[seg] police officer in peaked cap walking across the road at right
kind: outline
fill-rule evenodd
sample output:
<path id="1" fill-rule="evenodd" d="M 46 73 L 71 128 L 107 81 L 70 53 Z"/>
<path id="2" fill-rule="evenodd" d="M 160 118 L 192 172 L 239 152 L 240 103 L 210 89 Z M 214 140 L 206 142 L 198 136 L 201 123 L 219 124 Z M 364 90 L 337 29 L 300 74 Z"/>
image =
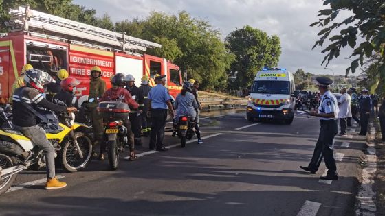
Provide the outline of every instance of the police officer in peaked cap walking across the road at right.
<path id="1" fill-rule="evenodd" d="M 322 180 L 338 180 L 336 160 L 333 156 L 334 136 L 338 133 L 338 101 L 336 97 L 329 91 L 329 85 L 333 83 L 328 77 L 317 77 L 318 89 L 320 90 L 321 101 L 318 108 L 318 112 L 308 112 L 309 115 L 320 117 L 320 135 L 314 149 L 313 158 L 309 163 L 309 166 L 301 169 L 316 173 L 322 157 L 325 159 L 325 165 L 328 169 L 327 176 L 321 176 Z"/>

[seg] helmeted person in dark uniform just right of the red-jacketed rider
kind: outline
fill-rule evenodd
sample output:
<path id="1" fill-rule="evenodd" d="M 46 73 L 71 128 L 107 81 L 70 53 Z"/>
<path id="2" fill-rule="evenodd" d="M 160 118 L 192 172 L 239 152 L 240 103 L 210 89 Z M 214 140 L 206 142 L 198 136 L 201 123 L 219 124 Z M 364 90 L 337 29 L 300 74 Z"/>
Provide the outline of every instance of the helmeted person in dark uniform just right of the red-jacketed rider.
<path id="1" fill-rule="evenodd" d="M 129 74 L 126 76 L 126 89 L 131 94 L 132 98 L 139 104 L 137 110 L 131 110 L 129 120 L 134 135 L 135 145 L 142 145 L 142 113 L 144 108 L 144 98 L 142 92 L 135 86 L 135 77 Z"/>

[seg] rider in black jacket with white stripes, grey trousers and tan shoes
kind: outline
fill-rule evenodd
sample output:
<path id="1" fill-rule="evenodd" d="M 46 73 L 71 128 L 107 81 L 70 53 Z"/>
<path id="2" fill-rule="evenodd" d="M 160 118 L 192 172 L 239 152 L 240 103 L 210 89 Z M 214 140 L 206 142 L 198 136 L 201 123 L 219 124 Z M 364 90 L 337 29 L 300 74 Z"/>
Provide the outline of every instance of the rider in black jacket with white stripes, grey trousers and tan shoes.
<path id="1" fill-rule="evenodd" d="M 45 154 L 47 161 L 47 182 L 45 189 L 61 189 L 66 187 L 65 182 L 60 182 L 55 175 L 55 149 L 47 140 L 45 130 L 38 125 L 39 108 L 47 108 L 56 112 L 76 112 L 76 108 L 59 106 L 47 101 L 42 95 L 44 85 L 52 82 L 52 77 L 38 69 L 25 71 L 25 86 L 17 88 L 13 95 L 13 118 L 12 123 L 31 141 L 38 145 Z M 26 158 L 28 159 L 28 158 Z"/>

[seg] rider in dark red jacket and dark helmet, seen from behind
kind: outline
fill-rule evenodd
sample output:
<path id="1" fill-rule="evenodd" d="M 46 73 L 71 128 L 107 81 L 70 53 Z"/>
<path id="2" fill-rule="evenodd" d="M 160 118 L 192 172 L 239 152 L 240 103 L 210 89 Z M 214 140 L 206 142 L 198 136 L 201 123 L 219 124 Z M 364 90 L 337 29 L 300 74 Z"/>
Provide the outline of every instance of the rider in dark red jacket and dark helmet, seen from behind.
<path id="1" fill-rule="evenodd" d="M 139 108 L 139 104 L 131 97 L 129 91 L 127 91 L 124 86 L 126 85 L 126 77 L 122 73 L 116 73 L 111 79 L 112 88 L 107 90 L 100 102 L 102 101 L 122 101 L 129 105 L 129 108 L 132 110 L 137 110 Z M 127 139 L 129 140 L 129 160 L 136 160 L 134 148 L 135 143 L 133 140 L 133 132 L 131 130 L 131 123 L 129 119 L 122 119 L 124 127 L 127 128 Z M 102 151 L 104 149 L 100 149 Z M 104 158 L 104 152 L 100 152 L 102 157 Z"/>

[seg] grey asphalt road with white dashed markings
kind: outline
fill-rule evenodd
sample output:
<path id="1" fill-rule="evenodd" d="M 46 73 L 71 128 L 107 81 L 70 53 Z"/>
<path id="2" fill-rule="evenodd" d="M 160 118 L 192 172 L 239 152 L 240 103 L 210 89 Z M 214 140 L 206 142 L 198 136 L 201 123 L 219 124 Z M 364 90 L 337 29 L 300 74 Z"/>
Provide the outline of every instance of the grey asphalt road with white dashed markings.
<path id="1" fill-rule="evenodd" d="M 292 125 L 250 123 L 241 112 L 202 119 L 201 130 L 209 137 L 202 145 L 168 152 L 148 152 L 145 139 L 137 150 L 146 153 L 120 161 L 118 171 L 109 171 L 108 160 L 79 173 L 59 170 L 65 189 L 46 191 L 38 184 L 45 171 L 24 171 L 0 197 L 0 215 L 353 214 L 363 139 L 338 138 L 340 180 L 320 182 L 324 163 L 316 175 L 298 168 L 313 154 L 316 118 L 297 113 Z M 168 133 L 167 145 L 178 142 Z"/>

